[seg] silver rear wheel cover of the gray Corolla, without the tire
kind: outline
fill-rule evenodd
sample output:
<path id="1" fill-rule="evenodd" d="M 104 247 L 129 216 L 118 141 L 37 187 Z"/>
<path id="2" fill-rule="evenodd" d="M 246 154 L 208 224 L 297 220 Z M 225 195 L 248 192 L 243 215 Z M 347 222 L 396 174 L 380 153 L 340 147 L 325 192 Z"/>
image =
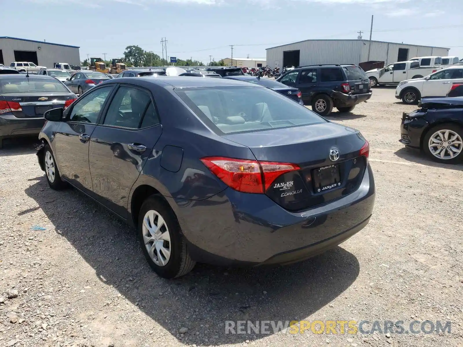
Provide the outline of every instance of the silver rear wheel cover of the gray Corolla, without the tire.
<path id="1" fill-rule="evenodd" d="M 170 234 L 164 218 L 154 210 L 143 218 L 143 241 L 150 258 L 157 266 L 165 266 L 170 259 Z"/>

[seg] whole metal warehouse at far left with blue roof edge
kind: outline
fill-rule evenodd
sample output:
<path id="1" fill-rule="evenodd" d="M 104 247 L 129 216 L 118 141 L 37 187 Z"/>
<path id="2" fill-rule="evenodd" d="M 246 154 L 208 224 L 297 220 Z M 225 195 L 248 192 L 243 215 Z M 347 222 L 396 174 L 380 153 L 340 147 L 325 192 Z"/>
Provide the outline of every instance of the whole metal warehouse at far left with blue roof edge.
<path id="1" fill-rule="evenodd" d="M 33 62 L 36 65 L 52 68 L 53 62 L 81 65 L 81 58 L 77 46 L 0 37 L 0 64 L 10 65 L 11 62 Z"/>

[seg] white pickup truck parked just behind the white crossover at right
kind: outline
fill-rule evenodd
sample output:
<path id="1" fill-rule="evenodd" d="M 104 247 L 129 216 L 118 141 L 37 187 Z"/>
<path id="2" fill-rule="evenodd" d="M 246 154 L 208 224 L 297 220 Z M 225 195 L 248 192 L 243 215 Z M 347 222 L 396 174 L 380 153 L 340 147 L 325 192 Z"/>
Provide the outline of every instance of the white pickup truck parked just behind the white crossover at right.
<path id="1" fill-rule="evenodd" d="M 371 87 L 380 84 L 399 84 L 401 81 L 421 78 L 440 70 L 442 67 L 422 68 L 417 61 L 394 62 L 385 66 L 367 71 Z"/>

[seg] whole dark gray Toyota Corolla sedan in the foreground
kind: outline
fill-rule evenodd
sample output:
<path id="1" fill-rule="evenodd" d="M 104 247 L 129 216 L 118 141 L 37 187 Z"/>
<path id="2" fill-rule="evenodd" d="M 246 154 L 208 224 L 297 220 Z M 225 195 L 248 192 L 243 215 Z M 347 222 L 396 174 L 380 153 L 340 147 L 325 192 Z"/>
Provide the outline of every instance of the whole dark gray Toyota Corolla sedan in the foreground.
<path id="1" fill-rule="evenodd" d="M 369 222 L 369 144 L 274 91 L 241 81 L 105 81 L 45 113 L 38 161 L 137 228 L 164 278 L 195 262 L 287 264 Z"/>

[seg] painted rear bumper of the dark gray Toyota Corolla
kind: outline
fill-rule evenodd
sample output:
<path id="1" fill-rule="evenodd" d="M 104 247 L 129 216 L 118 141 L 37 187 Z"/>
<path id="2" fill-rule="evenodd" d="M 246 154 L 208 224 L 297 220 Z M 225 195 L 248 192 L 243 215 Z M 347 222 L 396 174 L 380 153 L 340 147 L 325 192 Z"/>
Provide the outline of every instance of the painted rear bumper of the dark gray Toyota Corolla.
<path id="1" fill-rule="evenodd" d="M 205 200 L 175 199 L 191 257 L 223 266 L 284 264 L 333 248 L 368 223 L 375 201 L 371 168 L 356 192 L 290 212 L 263 194 L 231 188 Z"/>

